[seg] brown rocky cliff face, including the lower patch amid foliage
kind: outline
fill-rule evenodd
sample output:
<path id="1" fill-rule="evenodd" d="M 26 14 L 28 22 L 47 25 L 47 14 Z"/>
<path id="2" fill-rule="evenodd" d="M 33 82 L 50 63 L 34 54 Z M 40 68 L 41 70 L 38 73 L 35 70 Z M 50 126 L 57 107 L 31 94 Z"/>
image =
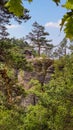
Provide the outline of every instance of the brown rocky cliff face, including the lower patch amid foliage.
<path id="1" fill-rule="evenodd" d="M 32 61 L 33 71 L 24 71 L 23 85 L 26 90 L 29 90 L 32 85 L 29 85 L 31 79 L 38 80 L 43 86 L 44 83 L 48 83 L 51 78 L 51 74 L 54 72 L 53 60 L 51 59 L 35 59 Z M 38 97 L 34 94 L 29 94 L 25 99 L 22 99 L 21 105 L 28 106 L 30 104 L 35 105 L 38 102 Z"/>

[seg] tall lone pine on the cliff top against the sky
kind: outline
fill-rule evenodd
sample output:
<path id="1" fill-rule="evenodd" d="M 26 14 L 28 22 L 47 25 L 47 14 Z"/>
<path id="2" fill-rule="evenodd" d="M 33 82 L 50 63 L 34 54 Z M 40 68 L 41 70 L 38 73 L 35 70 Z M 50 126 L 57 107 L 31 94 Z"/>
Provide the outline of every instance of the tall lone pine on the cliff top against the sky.
<path id="1" fill-rule="evenodd" d="M 50 50 L 50 48 L 53 48 L 53 45 L 49 44 L 51 40 L 47 40 L 46 38 L 46 36 L 49 36 L 49 33 L 45 31 L 45 28 L 42 25 L 34 22 L 32 26 L 33 30 L 26 35 L 26 38 L 27 40 L 30 40 L 35 49 L 38 49 L 38 56 L 40 56 L 42 48 L 47 51 L 47 49 Z"/>

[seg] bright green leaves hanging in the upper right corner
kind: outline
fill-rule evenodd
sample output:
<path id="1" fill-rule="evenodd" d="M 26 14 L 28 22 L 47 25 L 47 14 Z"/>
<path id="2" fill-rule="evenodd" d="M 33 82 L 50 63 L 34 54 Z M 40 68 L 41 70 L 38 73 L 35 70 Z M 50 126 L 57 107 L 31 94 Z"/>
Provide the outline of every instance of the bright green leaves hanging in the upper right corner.
<path id="1" fill-rule="evenodd" d="M 53 0 L 58 5 L 61 0 Z M 61 22 L 61 29 L 64 26 L 64 32 L 66 37 L 69 39 L 73 39 L 73 0 L 66 0 L 65 4 L 62 5 L 64 8 L 68 10 L 68 12 L 63 16 Z"/>

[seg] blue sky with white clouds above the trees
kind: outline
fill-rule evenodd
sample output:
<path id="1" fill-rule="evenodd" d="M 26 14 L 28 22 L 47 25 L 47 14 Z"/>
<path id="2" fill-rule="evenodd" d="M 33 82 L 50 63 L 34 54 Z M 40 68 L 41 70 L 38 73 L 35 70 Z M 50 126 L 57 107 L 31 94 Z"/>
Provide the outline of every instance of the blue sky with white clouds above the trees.
<path id="1" fill-rule="evenodd" d="M 62 3 L 64 1 L 62 0 Z M 24 5 L 30 10 L 31 19 L 21 25 L 11 21 L 12 25 L 7 26 L 10 37 L 25 37 L 32 30 L 32 24 L 37 21 L 50 33 L 49 39 L 53 40 L 53 44 L 59 44 L 64 38 L 64 32 L 60 32 L 59 23 L 66 10 L 61 6 L 56 6 L 52 0 L 33 0 L 30 4 L 25 1 Z"/>

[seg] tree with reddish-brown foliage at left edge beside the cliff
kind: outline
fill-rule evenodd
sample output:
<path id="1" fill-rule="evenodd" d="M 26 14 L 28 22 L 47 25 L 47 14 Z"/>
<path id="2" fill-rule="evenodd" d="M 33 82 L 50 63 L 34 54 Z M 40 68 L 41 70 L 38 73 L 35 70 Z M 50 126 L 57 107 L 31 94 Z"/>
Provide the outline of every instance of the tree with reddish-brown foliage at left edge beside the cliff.
<path id="1" fill-rule="evenodd" d="M 4 64 L 0 65 L 0 80 L 0 92 L 5 97 L 5 101 L 1 99 L 0 104 L 7 107 L 19 104 L 22 96 L 26 95 L 25 90 L 17 84 L 13 72 Z"/>

